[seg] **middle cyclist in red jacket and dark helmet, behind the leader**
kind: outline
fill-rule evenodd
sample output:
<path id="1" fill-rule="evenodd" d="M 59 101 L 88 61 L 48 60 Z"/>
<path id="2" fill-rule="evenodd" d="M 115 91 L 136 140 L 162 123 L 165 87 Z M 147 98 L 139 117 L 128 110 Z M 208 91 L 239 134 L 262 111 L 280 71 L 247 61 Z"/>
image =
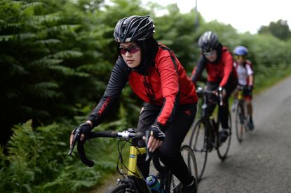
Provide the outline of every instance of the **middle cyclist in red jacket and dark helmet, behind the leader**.
<path id="1" fill-rule="evenodd" d="M 202 54 L 198 59 L 192 72 L 191 80 L 196 84 L 201 77 L 202 72 L 206 69 L 207 89 L 224 90 L 224 104 L 219 108 L 220 120 L 222 122 L 222 131 L 219 133 L 219 141 L 224 142 L 228 137 L 228 113 L 229 113 L 229 96 L 234 91 L 238 83 L 236 71 L 234 70 L 234 60 L 229 49 L 219 43 L 217 34 L 212 31 L 206 31 L 199 38 L 198 45 Z M 210 96 L 209 100 L 217 100 L 215 96 Z M 210 103 L 208 113 L 210 115 L 215 109 L 215 103 Z"/>

